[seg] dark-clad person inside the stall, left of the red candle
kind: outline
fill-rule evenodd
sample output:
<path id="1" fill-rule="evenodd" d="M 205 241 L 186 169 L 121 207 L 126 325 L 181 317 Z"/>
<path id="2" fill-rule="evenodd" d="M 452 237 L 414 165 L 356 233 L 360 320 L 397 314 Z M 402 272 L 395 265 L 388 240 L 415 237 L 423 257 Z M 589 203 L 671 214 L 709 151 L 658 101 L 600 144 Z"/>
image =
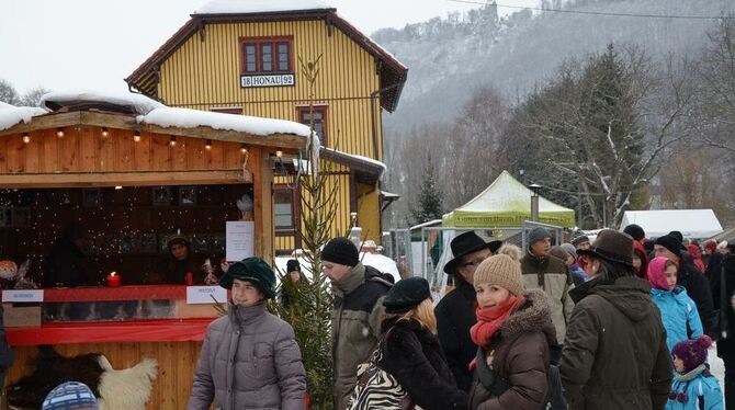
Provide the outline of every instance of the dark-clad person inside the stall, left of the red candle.
<path id="1" fill-rule="evenodd" d="M 46 260 L 44 287 L 71 287 L 87 284 L 88 277 L 82 265 L 86 234 L 87 230 L 79 223 L 71 223 L 64 228 L 61 237 Z"/>

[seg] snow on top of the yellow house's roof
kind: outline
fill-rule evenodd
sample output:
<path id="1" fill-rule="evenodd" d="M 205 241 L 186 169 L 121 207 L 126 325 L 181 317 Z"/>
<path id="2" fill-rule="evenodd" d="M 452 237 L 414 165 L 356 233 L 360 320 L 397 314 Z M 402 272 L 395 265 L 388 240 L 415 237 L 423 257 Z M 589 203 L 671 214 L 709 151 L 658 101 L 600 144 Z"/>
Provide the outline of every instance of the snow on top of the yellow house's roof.
<path id="1" fill-rule="evenodd" d="M 196 9 L 192 15 L 249 14 L 321 9 L 332 9 L 332 7 L 321 0 L 213 0 Z"/>

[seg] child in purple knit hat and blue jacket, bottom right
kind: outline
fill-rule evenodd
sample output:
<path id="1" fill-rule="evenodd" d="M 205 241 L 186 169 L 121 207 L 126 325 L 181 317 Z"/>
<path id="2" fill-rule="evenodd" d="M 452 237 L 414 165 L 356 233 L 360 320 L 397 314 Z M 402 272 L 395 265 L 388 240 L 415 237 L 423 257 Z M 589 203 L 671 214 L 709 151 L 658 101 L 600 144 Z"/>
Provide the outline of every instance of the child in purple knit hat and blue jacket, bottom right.
<path id="1" fill-rule="evenodd" d="M 674 346 L 674 384 L 666 410 L 724 410 L 717 378 L 710 374 L 706 350 L 712 339 L 702 334 Z"/>

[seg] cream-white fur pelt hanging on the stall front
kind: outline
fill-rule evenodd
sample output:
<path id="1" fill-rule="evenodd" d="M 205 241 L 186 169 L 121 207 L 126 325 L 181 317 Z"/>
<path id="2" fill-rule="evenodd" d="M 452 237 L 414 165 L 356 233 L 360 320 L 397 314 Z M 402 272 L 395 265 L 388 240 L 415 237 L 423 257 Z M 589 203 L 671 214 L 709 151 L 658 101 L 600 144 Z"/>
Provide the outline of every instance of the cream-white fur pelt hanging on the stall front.
<path id="1" fill-rule="evenodd" d="M 115 371 L 104 356 L 100 377 L 100 410 L 144 410 L 150 398 L 152 381 L 158 377 L 158 362 L 144 358 L 131 368 Z"/>

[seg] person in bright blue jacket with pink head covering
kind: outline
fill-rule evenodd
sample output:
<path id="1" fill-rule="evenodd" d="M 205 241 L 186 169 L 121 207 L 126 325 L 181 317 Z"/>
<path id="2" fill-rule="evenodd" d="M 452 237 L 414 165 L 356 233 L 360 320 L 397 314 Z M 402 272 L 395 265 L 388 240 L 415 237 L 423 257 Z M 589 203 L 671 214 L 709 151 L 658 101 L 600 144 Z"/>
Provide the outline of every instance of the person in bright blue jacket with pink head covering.
<path id="1" fill-rule="evenodd" d="M 676 284 L 678 269 L 676 262 L 663 257 L 654 258 L 648 263 L 651 299 L 662 311 L 669 351 L 675 344 L 704 333 L 697 304 L 682 286 Z"/>

